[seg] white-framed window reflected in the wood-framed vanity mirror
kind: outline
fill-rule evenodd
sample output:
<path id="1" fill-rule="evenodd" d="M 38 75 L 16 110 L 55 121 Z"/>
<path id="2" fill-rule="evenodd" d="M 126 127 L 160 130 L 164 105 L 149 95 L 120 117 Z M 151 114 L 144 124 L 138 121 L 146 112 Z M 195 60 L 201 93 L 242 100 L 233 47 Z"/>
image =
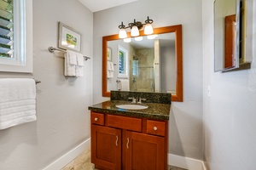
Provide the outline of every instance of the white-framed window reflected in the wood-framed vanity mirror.
<path id="1" fill-rule="evenodd" d="M 128 77 L 128 50 L 118 46 L 118 63 L 119 63 L 119 71 L 118 77 Z"/>

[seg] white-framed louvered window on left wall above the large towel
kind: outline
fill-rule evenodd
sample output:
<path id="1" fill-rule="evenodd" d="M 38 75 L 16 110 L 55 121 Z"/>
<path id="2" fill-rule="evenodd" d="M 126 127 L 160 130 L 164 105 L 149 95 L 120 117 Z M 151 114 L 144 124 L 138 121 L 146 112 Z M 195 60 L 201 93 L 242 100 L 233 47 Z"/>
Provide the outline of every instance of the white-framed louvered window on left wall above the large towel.
<path id="1" fill-rule="evenodd" d="M 0 0 L 0 71 L 32 72 L 32 0 Z"/>

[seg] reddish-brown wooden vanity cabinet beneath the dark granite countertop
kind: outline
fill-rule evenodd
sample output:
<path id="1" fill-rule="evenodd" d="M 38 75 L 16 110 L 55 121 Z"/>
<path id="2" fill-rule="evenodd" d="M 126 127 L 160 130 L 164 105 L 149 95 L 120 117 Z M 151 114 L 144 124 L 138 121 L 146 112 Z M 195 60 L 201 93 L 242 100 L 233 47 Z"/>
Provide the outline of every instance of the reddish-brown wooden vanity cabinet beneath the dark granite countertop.
<path id="1" fill-rule="evenodd" d="M 91 111 L 91 162 L 102 170 L 166 170 L 167 121 Z"/>

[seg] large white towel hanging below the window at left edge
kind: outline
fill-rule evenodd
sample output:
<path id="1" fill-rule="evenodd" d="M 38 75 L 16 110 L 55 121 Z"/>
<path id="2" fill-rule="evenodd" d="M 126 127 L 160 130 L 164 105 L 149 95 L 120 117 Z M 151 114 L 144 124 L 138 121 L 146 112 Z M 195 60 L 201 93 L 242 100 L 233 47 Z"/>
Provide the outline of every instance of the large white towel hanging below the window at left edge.
<path id="1" fill-rule="evenodd" d="M 0 87 L 0 129 L 37 120 L 33 79 L 0 78 Z"/>

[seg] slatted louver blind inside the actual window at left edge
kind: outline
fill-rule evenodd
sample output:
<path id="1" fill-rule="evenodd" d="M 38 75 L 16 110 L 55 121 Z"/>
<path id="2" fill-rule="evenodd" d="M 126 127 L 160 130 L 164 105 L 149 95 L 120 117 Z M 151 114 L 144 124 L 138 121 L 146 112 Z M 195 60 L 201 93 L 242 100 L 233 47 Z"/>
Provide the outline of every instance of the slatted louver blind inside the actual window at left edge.
<path id="1" fill-rule="evenodd" d="M 0 57 L 13 58 L 14 8 L 13 0 L 0 0 Z"/>

